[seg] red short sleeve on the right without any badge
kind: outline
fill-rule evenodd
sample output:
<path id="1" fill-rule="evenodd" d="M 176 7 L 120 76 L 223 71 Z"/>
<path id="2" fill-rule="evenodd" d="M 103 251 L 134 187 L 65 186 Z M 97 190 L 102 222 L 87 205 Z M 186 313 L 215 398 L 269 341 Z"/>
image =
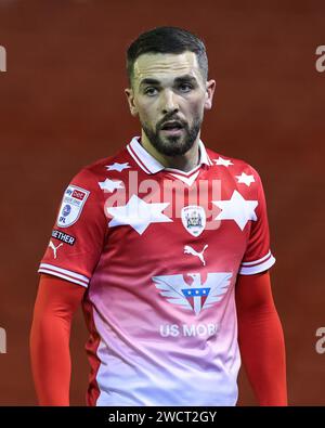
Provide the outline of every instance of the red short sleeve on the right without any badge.
<path id="1" fill-rule="evenodd" d="M 258 206 L 256 209 L 257 219 L 251 221 L 247 248 L 238 271 L 242 275 L 263 272 L 275 263 L 275 258 L 270 249 L 270 231 L 262 181 L 259 173 L 252 167 L 250 168 L 256 179 L 255 198 L 258 202 Z"/>

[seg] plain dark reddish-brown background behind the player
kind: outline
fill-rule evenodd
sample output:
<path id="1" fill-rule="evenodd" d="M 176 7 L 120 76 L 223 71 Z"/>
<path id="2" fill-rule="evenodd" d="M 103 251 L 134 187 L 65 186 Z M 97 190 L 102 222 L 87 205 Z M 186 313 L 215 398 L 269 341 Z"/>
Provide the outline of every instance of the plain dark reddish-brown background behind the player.
<path id="1" fill-rule="evenodd" d="M 125 55 L 140 33 L 176 25 L 206 43 L 217 80 L 202 139 L 260 172 L 268 199 L 274 298 L 287 345 L 289 401 L 325 405 L 324 1 L 0 0 L 0 404 L 37 403 L 29 328 L 37 268 L 72 177 L 115 153 L 140 126 L 127 105 Z M 84 405 L 81 311 L 72 335 L 72 404 Z M 258 346 L 258 345 L 257 345 Z M 255 399 L 240 374 L 240 405 Z"/>

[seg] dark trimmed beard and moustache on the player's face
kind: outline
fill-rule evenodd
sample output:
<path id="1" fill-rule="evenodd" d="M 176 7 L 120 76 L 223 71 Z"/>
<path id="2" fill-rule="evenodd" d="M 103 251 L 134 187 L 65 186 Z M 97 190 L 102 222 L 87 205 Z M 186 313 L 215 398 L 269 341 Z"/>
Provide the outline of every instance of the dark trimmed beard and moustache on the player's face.
<path id="1" fill-rule="evenodd" d="M 187 124 L 182 124 L 183 128 L 180 135 L 161 135 L 161 128 L 159 125 L 157 125 L 156 130 L 151 129 L 142 121 L 141 126 L 148 141 L 158 153 L 165 156 L 180 156 L 184 155 L 193 147 L 200 130 L 202 121 L 202 118 L 196 117 L 191 128 Z"/>

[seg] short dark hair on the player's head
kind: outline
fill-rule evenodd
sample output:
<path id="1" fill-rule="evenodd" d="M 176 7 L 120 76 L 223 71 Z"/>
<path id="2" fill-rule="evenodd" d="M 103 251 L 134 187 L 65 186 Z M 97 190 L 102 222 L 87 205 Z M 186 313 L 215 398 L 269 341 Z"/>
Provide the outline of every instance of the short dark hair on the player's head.
<path id="1" fill-rule="evenodd" d="M 129 85 L 134 78 L 134 63 L 144 53 L 183 53 L 196 54 L 204 80 L 208 78 L 208 57 L 205 43 L 193 33 L 179 27 L 156 27 L 142 33 L 127 50 L 127 73 Z"/>

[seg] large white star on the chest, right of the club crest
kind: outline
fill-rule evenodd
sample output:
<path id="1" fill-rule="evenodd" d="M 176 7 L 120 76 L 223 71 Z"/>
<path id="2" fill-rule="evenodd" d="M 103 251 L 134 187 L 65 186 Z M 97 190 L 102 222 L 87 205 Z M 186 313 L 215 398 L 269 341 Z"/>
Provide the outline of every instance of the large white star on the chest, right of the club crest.
<path id="1" fill-rule="evenodd" d="M 242 231 L 248 220 L 257 220 L 255 209 L 258 206 L 258 202 L 244 199 L 237 191 L 234 191 L 231 199 L 212 200 L 212 204 L 222 209 L 214 220 L 234 220 Z"/>

